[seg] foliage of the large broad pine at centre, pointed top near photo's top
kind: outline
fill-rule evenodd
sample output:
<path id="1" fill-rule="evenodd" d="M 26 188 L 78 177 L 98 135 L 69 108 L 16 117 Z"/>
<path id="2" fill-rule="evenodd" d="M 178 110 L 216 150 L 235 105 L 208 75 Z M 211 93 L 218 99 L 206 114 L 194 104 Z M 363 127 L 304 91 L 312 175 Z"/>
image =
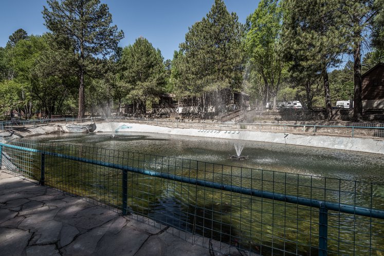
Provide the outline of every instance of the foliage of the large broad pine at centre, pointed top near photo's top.
<path id="1" fill-rule="evenodd" d="M 222 0 L 215 0 L 207 16 L 189 28 L 174 55 L 172 81 L 179 96 L 240 90 L 243 35 L 237 15 L 230 14 Z"/>

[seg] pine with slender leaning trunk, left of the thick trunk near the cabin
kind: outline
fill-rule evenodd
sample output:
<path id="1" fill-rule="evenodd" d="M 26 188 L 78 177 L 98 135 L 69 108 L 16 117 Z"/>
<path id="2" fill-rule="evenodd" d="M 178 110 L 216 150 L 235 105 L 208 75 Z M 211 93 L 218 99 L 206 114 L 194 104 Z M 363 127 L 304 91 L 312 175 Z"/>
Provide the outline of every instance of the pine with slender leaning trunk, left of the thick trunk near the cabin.
<path id="1" fill-rule="evenodd" d="M 331 119 L 333 113 L 327 70 L 340 62 L 338 57 L 345 50 L 339 1 L 287 0 L 284 9 L 285 57 L 292 61 L 292 68 L 306 70 L 303 75 L 321 74 L 326 114 Z"/>

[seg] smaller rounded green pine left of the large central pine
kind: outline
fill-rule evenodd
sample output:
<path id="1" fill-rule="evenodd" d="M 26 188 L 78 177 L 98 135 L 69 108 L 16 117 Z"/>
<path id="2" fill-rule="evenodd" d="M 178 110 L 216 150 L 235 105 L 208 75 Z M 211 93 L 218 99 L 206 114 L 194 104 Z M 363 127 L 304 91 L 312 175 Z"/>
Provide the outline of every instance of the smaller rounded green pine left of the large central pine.
<path id="1" fill-rule="evenodd" d="M 137 38 L 125 47 L 120 65 L 121 84 L 126 103 L 134 104 L 135 110 L 145 112 L 148 100 L 155 100 L 164 91 L 164 64 L 159 50 L 147 39 Z"/>

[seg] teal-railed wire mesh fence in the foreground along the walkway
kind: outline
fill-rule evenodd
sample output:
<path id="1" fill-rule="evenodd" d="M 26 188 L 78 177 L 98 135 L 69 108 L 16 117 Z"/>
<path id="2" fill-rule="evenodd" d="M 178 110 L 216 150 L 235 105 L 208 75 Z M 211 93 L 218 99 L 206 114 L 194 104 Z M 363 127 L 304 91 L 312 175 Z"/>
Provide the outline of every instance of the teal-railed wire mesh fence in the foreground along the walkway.
<path id="1" fill-rule="evenodd" d="M 33 141 L 0 143 L 0 163 L 218 252 L 384 253 L 383 184 Z"/>

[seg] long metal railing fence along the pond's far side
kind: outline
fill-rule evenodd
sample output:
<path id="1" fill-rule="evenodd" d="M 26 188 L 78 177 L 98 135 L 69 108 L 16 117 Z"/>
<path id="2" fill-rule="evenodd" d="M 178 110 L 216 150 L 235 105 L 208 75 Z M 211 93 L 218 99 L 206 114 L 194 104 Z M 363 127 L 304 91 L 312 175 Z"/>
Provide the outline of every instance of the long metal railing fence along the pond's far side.
<path id="1" fill-rule="evenodd" d="M 129 117 L 110 117 L 95 119 L 41 119 L 41 120 L 19 120 L 0 122 L 1 130 L 35 127 L 49 123 L 75 123 L 75 122 L 129 122 L 137 124 L 148 124 L 170 128 L 192 128 L 203 130 L 237 130 L 237 131 L 262 131 L 262 132 L 284 132 L 306 135 L 331 135 L 347 137 L 367 137 L 373 139 L 384 138 L 384 124 L 375 123 L 338 123 L 326 122 L 301 122 L 292 123 L 233 123 L 213 121 L 190 121 L 190 120 L 168 120 L 168 119 L 137 119 Z"/>

